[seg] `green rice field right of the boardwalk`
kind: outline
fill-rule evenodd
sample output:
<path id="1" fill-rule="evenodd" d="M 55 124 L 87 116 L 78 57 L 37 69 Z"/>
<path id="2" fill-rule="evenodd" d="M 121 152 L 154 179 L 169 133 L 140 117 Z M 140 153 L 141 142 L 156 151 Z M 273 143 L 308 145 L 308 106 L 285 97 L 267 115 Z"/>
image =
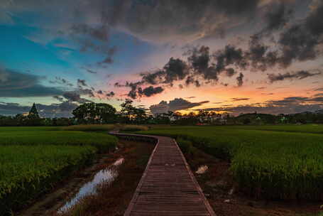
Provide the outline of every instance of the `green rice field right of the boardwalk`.
<path id="1" fill-rule="evenodd" d="M 170 126 L 141 134 L 182 137 L 230 160 L 241 190 L 258 198 L 323 200 L 321 129 L 322 125 Z"/>

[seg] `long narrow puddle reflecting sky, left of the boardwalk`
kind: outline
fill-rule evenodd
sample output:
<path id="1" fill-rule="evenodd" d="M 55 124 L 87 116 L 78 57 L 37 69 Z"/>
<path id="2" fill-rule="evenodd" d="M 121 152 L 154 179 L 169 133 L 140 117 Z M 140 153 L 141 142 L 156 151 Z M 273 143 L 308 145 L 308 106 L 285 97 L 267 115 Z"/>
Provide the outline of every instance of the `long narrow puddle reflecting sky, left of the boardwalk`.
<path id="1" fill-rule="evenodd" d="M 100 183 L 111 183 L 112 181 L 114 181 L 114 179 L 118 175 L 117 167 L 120 166 L 122 163 L 124 163 L 124 158 L 119 158 L 108 168 L 98 171 L 91 181 L 82 185 L 82 188 L 80 188 L 79 192 L 75 195 L 74 198 L 66 202 L 66 204 L 58 210 L 58 213 L 66 212 L 73 205 L 75 205 L 77 201 L 84 198 L 85 196 L 95 194 L 97 185 L 99 185 Z"/>

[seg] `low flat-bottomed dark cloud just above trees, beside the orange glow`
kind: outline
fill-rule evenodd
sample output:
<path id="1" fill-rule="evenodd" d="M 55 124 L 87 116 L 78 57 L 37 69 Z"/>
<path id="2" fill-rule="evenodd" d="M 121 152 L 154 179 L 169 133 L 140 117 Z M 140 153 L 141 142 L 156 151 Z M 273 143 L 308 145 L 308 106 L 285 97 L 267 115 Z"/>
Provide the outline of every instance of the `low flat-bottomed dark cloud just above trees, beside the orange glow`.
<path id="1" fill-rule="evenodd" d="M 149 107 L 149 109 L 152 114 L 167 113 L 168 111 L 175 112 L 177 110 L 198 107 L 198 106 L 200 106 L 202 104 L 206 104 L 208 102 L 209 101 L 190 102 L 186 99 L 175 98 L 175 99 L 171 100 L 170 102 L 162 101 L 159 104 L 152 105 Z"/>

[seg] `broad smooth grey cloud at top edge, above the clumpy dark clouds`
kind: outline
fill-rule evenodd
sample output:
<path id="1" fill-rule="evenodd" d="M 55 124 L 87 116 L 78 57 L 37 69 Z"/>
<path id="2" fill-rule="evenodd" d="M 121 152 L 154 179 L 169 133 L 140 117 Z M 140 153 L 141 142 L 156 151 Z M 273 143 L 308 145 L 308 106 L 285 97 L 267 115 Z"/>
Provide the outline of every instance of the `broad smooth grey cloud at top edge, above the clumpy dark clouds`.
<path id="1" fill-rule="evenodd" d="M 132 1 L 120 24 L 153 41 L 186 41 L 201 32 L 205 36 L 222 33 L 226 19 L 251 18 L 258 3 L 258 0 Z"/>

